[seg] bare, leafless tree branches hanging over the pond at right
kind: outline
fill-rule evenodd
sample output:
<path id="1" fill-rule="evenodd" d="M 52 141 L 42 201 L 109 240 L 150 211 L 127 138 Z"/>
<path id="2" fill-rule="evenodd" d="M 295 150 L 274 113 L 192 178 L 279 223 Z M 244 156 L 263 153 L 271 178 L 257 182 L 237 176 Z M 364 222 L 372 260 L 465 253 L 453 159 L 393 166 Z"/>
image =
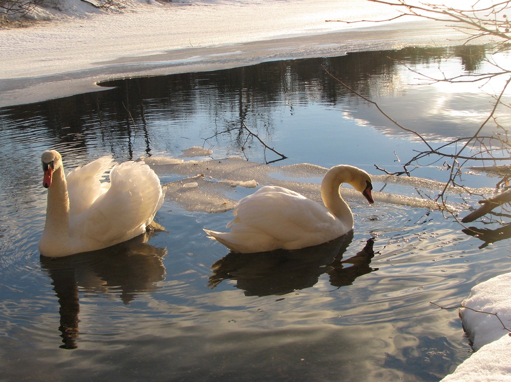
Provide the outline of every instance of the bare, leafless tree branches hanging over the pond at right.
<path id="1" fill-rule="evenodd" d="M 433 20 L 437 22 L 442 22 L 444 25 L 450 26 L 456 29 L 459 32 L 462 32 L 466 35 L 465 41 L 463 45 L 467 45 L 468 43 L 472 43 L 481 37 L 486 38 L 485 41 L 491 41 L 492 44 L 489 45 L 489 49 L 487 51 L 492 53 L 501 53 L 508 52 L 511 50 L 511 22 L 507 16 L 507 12 L 511 11 L 511 0 L 502 1 L 499 3 L 494 3 L 492 5 L 479 5 L 478 2 L 475 2 L 474 5 L 469 6 L 467 8 L 454 8 L 449 7 L 442 4 L 430 4 L 430 3 L 420 3 L 416 5 L 408 4 L 407 0 L 367 0 L 371 3 L 377 3 L 381 5 L 388 5 L 390 7 L 394 7 L 397 9 L 400 14 L 394 17 L 390 17 L 383 20 L 335 20 L 339 22 L 345 23 L 353 23 L 353 22 L 382 22 L 382 21 L 391 21 L 396 20 L 401 17 L 410 16 Z M 334 21 L 334 20 L 328 20 Z M 488 39 L 491 38 L 491 39 Z M 486 84 L 490 80 L 495 78 L 502 78 L 502 76 L 506 76 L 504 80 L 504 84 L 500 91 L 496 94 L 490 94 L 494 101 L 492 105 L 492 109 L 489 114 L 485 117 L 484 121 L 481 122 L 477 130 L 470 137 L 466 138 L 457 138 L 447 142 L 447 144 L 433 148 L 433 146 L 429 143 L 429 141 L 417 133 L 413 129 L 405 128 L 397 121 L 395 121 L 392 117 L 386 114 L 375 102 L 369 100 L 367 97 L 362 96 L 359 92 L 344 84 L 341 80 L 334 77 L 326 68 L 324 70 L 331 77 L 336 79 L 342 86 L 346 89 L 350 90 L 354 94 L 356 94 L 359 98 L 373 104 L 380 113 L 387 118 L 393 125 L 399 127 L 401 130 L 406 131 L 415 137 L 418 137 L 423 144 L 426 146 L 426 149 L 420 152 L 417 152 L 413 158 L 403 164 L 403 171 L 398 171 L 394 173 L 390 173 L 385 169 L 381 169 L 379 166 L 376 166 L 378 170 L 385 172 L 386 174 L 392 175 L 408 175 L 410 176 L 410 172 L 419 168 L 418 164 L 421 159 L 425 158 L 447 158 L 452 160 L 451 163 L 445 162 L 445 166 L 449 170 L 449 180 L 446 182 L 444 189 L 438 195 L 438 199 L 442 199 L 443 203 L 446 204 L 445 201 L 445 193 L 449 185 L 461 186 L 462 184 L 458 184 L 458 179 L 462 174 L 461 168 L 468 162 L 472 161 L 492 161 L 494 163 L 498 161 L 509 161 L 511 160 L 511 141 L 508 139 L 507 130 L 504 129 L 498 123 L 497 109 L 499 107 L 511 108 L 511 104 L 503 102 L 504 94 L 507 94 L 507 90 L 509 89 L 509 84 L 511 83 L 511 69 L 502 67 L 495 60 L 491 59 L 491 56 L 487 56 L 484 58 L 487 63 L 493 66 L 493 70 L 489 70 L 486 73 L 468 73 L 457 76 L 448 77 L 445 74 L 443 77 L 434 78 L 431 76 L 426 76 L 419 71 L 413 70 L 408 65 L 402 63 L 411 70 L 413 73 L 420 75 L 422 79 L 429 81 L 430 84 L 446 82 L 446 83 L 482 83 Z M 496 130 L 493 135 L 490 136 L 481 136 L 481 132 L 483 128 L 485 128 L 488 124 L 494 123 Z M 459 145 L 459 147 L 458 147 Z M 448 146 L 456 146 L 456 150 L 454 153 L 444 152 L 443 149 Z M 470 154 L 467 154 L 468 150 L 471 150 Z M 438 159 L 434 159 L 437 161 Z M 410 169 L 413 166 L 413 169 Z M 497 183 L 497 187 L 500 187 L 502 184 L 507 183 L 511 176 L 504 175 L 502 180 Z M 481 203 L 484 204 L 481 208 L 478 209 L 478 217 L 482 216 L 482 214 L 489 213 L 493 208 L 497 205 L 502 205 L 503 203 L 509 203 L 511 201 L 505 199 L 505 194 L 502 197 L 496 197 L 494 199 L 485 200 Z M 502 202 L 502 203 L 500 203 Z M 490 208 L 492 207 L 492 208 Z M 476 213 L 469 215 L 470 219 L 475 217 Z M 464 218 L 463 222 L 469 221 L 469 217 Z M 477 217 L 475 218 L 477 219 Z"/>

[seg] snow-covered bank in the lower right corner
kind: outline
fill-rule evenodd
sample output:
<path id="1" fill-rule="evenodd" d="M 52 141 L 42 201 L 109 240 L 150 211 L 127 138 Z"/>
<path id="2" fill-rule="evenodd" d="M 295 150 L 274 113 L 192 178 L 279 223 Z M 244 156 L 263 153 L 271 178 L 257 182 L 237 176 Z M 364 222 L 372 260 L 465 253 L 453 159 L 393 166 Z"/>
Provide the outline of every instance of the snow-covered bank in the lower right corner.
<path id="1" fill-rule="evenodd" d="M 511 273 L 474 286 L 462 305 L 463 327 L 476 352 L 442 382 L 511 381 Z"/>

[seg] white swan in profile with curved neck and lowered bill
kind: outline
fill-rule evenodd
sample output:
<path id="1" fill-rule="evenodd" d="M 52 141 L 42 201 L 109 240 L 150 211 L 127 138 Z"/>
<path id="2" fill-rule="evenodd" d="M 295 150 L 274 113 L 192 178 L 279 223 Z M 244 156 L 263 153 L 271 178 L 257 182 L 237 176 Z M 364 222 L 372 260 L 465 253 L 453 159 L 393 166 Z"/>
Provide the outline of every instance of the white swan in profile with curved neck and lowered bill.
<path id="1" fill-rule="evenodd" d="M 369 203 L 371 178 L 349 165 L 330 169 L 321 182 L 324 206 L 287 188 L 265 186 L 240 200 L 227 228 L 230 232 L 204 229 L 234 252 L 253 253 L 275 249 L 300 249 L 327 243 L 353 229 L 353 213 L 342 199 L 339 187 L 349 183 Z"/>

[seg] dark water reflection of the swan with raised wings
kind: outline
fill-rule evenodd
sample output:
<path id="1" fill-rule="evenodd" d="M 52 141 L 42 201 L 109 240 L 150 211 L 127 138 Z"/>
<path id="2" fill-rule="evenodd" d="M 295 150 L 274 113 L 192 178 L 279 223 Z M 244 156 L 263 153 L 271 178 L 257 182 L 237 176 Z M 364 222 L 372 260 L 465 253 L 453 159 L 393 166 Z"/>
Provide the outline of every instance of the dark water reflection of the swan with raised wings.
<path id="1" fill-rule="evenodd" d="M 157 289 L 165 279 L 164 248 L 146 243 L 154 235 L 146 232 L 131 240 L 94 252 L 51 258 L 40 257 L 41 267 L 52 279 L 58 298 L 63 349 L 76 349 L 81 293 L 115 293 L 124 304 L 137 294 Z"/>

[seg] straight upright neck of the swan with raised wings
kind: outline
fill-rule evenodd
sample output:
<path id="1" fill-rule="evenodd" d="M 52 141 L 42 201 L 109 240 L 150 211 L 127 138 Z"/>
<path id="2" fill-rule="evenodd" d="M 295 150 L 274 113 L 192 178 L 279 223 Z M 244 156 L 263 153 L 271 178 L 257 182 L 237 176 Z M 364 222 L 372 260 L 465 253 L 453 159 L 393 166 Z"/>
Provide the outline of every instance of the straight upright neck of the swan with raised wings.
<path id="1" fill-rule="evenodd" d="M 43 233 L 50 234 L 54 240 L 67 237 L 69 232 L 69 196 L 64 169 L 59 166 L 53 173 L 52 184 L 48 188 L 46 223 Z"/>

